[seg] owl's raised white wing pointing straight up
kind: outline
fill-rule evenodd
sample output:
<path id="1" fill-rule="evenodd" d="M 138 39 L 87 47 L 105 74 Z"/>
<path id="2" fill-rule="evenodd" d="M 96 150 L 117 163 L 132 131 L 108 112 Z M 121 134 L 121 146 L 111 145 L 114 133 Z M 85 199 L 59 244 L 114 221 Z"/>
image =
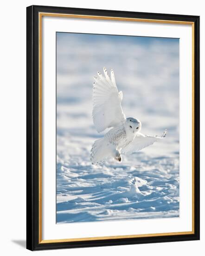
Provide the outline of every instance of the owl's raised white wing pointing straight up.
<path id="1" fill-rule="evenodd" d="M 104 76 L 97 72 L 93 83 L 93 123 L 98 132 L 109 127 L 122 124 L 126 117 L 122 111 L 122 91 L 118 93 L 114 71 L 111 69 L 111 78 L 103 68 Z"/>

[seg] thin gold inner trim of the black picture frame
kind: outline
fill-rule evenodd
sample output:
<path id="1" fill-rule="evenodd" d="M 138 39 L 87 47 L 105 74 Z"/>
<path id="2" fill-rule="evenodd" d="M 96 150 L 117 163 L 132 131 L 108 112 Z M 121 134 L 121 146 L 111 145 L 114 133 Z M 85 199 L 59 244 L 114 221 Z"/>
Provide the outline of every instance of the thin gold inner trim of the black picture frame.
<path id="1" fill-rule="evenodd" d="M 61 18 L 78 18 L 78 19 L 94 19 L 94 20 L 119 20 L 119 21 L 135 21 L 135 22 L 150 22 L 150 23 L 168 23 L 168 24 L 182 24 L 192 25 L 192 231 L 185 232 L 171 232 L 171 233 L 155 233 L 155 234 L 139 234 L 139 235 L 125 235 L 125 236 L 98 236 L 98 237 L 80 237 L 68 239 L 42 239 L 42 17 L 61 17 Z M 39 48 L 39 226 L 38 237 L 39 243 L 64 243 L 77 241 L 93 241 L 106 239 L 122 239 L 122 238 L 139 238 L 139 237 L 154 237 L 154 236 L 173 236 L 173 235 L 191 235 L 194 234 L 194 22 L 180 21 L 180 20 L 153 20 L 153 19 L 137 19 L 137 18 L 122 18 L 110 16 L 95 16 L 95 15 L 77 15 L 64 13 L 38 13 L 38 48 Z"/>

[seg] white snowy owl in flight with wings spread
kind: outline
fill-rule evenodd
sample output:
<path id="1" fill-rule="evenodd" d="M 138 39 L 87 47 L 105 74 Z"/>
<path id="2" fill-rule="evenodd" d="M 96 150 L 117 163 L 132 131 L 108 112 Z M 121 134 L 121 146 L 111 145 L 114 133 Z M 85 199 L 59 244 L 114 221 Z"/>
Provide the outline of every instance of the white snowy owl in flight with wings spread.
<path id="1" fill-rule="evenodd" d="M 111 78 L 105 67 L 103 71 L 104 76 L 97 72 L 98 77 L 94 77 L 92 117 L 98 133 L 111 129 L 92 145 L 90 160 L 93 164 L 101 164 L 110 158 L 122 162 L 122 153 L 132 154 L 167 134 L 167 130 L 161 136 L 141 134 L 141 121 L 126 118 L 122 111 L 122 91 L 118 92 L 113 69 Z"/>

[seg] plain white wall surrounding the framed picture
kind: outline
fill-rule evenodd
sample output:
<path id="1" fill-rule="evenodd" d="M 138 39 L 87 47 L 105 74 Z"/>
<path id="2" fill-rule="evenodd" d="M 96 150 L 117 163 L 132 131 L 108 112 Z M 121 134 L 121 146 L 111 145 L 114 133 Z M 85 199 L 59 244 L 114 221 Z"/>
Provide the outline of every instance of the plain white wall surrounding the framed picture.
<path id="1" fill-rule="evenodd" d="M 200 15 L 201 42 L 201 240 L 86 249 L 38 251 L 36 255 L 202 255 L 205 249 L 205 7 L 203 0 L 2 1 L 0 12 L 0 252 L 26 250 L 26 7 L 50 5 L 136 12 Z M 204 102 L 203 102 L 204 101 Z"/>

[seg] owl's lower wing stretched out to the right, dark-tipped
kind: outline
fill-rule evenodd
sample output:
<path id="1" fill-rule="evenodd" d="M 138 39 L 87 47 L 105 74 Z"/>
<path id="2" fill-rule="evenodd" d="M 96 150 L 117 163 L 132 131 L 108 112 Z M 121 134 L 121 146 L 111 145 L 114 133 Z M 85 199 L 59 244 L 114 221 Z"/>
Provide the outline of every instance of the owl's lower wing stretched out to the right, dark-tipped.
<path id="1" fill-rule="evenodd" d="M 166 137 L 167 130 L 164 131 L 161 136 L 149 136 L 138 133 L 133 141 L 131 141 L 127 146 L 122 148 L 122 153 L 127 155 L 132 154 L 136 151 L 146 148 L 149 145 L 152 145 L 154 142 L 159 141 Z"/>

